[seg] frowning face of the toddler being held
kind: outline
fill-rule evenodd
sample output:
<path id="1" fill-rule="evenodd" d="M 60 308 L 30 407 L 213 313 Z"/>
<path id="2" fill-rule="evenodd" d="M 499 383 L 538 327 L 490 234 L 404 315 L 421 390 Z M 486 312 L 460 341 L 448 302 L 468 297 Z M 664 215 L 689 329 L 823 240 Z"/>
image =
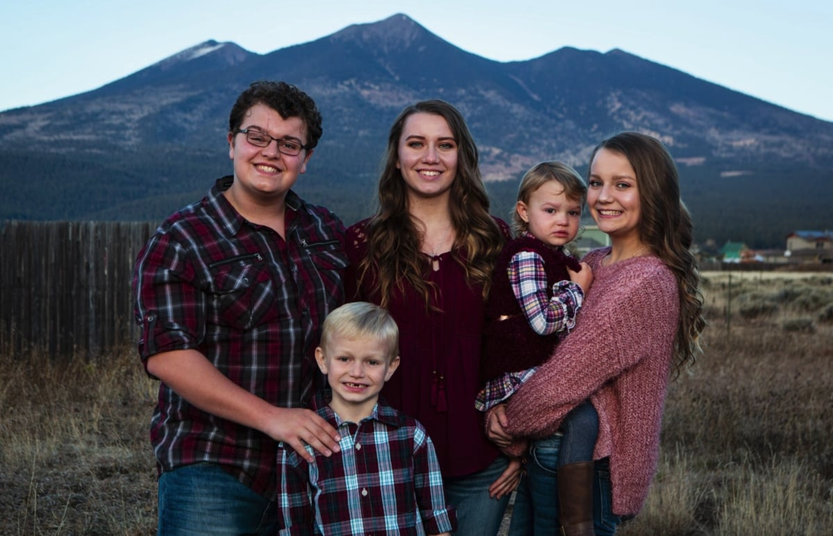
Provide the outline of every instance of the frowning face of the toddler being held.
<path id="1" fill-rule="evenodd" d="M 532 236 L 549 246 L 564 246 L 578 233 L 581 200 L 567 198 L 560 182 L 546 181 L 528 203 L 518 201 L 516 211 Z"/>

